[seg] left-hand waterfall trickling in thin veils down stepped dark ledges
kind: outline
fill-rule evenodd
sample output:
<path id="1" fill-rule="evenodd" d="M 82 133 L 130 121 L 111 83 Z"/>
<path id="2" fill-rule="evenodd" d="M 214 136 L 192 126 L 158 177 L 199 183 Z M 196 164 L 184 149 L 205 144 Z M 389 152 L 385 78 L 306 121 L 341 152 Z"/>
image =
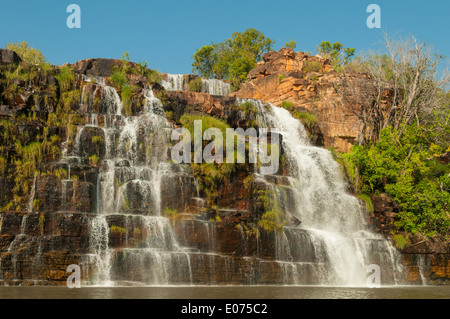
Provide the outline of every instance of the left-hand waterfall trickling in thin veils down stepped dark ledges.
<path id="1" fill-rule="evenodd" d="M 83 80 L 91 82 L 92 78 Z M 162 116 L 162 103 L 147 88 L 142 114 L 125 117 L 115 89 L 105 85 L 102 78 L 95 78 L 95 84 L 94 94 L 102 90 L 104 126 L 92 119 L 98 114 L 88 113 L 87 124 L 75 137 L 73 154 L 63 159 L 82 158 L 83 130 L 91 127 L 103 132 L 105 152 L 98 177 L 97 215 L 91 219 L 90 254 L 83 261 L 93 268 L 89 284 L 168 284 L 169 274 L 177 265 L 184 265 L 189 271 L 184 276 L 192 278 L 189 255 L 178 246 L 161 211 L 161 179 L 171 174 L 167 163 L 171 125 Z M 92 100 L 83 87 L 82 102 L 89 104 Z M 115 220 L 120 226 L 114 224 Z M 117 233 L 128 237 L 129 229 L 140 237 L 139 242 L 111 247 L 111 238 Z"/>

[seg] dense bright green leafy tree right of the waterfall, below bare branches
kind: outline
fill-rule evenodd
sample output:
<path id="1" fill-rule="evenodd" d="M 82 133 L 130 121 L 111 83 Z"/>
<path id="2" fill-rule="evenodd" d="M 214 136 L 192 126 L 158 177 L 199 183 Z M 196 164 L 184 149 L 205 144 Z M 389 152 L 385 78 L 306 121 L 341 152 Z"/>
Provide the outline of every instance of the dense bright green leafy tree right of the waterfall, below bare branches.
<path id="1" fill-rule="evenodd" d="M 432 140 L 426 127 L 408 125 L 402 134 L 387 127 L 375 145 L 341 156 L 358 172 L 361 193 L 385 192 L 397 202 L 399 230 L 450 239 L 450 168 L 437 158 L 448 144 Z"/>

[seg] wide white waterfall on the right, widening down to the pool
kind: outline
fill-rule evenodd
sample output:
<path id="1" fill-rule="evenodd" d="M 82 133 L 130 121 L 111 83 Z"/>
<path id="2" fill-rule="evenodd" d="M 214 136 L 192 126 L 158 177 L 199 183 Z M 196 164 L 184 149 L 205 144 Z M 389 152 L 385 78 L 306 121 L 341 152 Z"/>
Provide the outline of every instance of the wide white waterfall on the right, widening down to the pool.
<path id="1" fill-rule="evenodd" d="M 398 283 L 402 273 L 400 254 L 381 235 L 367 229 L 364 211 L 359 201 L 346 192 L 331 153 L 312 146 L 304 127 L 286 109 L 251 101 L 258 108 L 260 125 L 278 129 L 282 135 L 290 168 L 287 175 L 293 205 L 286 205 L 287 212 L 302 224 L 285 227 L 281 236 L 286 233 L 294 239 L 291 250 L 303 251 L 303 256 L 297 258 L 300 262 L 291 263 L 290 267 L 295 269 L 303 267 L 302 261 L 314 261 L 320 284 L 363 286 L 368 277 L 367 266 L 375 263 L 381 266 L 381 276 Z M 265 176 L 259 178 L 264 180 Z M 281 238 L 279 242 L 278 259 L 291 259 L 286 240 Z"/>

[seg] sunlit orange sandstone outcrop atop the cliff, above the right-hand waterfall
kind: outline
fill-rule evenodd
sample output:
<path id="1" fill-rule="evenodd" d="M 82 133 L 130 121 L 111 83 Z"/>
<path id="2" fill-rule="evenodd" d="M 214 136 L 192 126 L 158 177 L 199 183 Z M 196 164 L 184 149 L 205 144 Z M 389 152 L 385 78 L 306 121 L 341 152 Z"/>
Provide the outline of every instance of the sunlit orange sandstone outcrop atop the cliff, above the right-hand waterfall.
<path id="1" fill-rule="evenodd" d="M 316 115 L 325 147 L 347 152 L 355 143 L 360 130 L 355 106 L 344 103 L 338 94 L 339 78 L 330 60 L 282 48 L 266 53 L 247 79 L 232 96 L 278 106 L 292 102 L 299 112 Z"/>

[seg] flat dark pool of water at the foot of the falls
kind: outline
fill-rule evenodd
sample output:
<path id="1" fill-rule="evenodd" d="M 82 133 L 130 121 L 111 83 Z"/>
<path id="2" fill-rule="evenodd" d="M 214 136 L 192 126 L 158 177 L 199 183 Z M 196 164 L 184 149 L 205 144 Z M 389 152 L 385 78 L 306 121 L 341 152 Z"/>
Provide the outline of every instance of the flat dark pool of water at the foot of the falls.
<path id="1" fill-rule="evenodd" d="M 0 287 L 0 299 L 450 299 L 450 286 Z"/>

